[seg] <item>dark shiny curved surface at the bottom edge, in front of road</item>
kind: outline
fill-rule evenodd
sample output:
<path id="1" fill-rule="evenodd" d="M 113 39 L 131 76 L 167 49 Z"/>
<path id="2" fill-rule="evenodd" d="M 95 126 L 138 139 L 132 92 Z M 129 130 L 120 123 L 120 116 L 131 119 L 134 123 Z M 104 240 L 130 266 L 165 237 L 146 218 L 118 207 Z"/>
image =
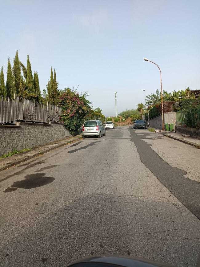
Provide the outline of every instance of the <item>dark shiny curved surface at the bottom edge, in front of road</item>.
<path id="1" fill-rule="evenodd" d="M 146 260 L 138 257 L 126 257 L 118 255 L 97 255 L 86 257 L 68 265 L 71 267 L 172 267 L 173 265 L 160 263 L 158 261 Z"/>

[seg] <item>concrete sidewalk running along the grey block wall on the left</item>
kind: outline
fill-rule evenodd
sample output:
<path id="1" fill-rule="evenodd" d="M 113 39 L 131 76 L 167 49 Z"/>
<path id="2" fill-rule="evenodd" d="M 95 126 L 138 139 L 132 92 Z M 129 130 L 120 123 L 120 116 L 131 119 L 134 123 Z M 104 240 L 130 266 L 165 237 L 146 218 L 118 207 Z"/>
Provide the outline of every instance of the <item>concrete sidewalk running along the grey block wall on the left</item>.
<path id="1" fill-rule="evenodd" d="M 0 171 L 6 170 L 7 168 L 20 164 L 26 160 L 29 160 L 31 158 L 34 158 L 36 156 L 39 156 L 41 154 L 54 150 L 58 147 L 65 146 L 66 144 L 77 141 L 80 138 L 82 138 L 82 134 L 69 137 L 66 139 L 62 139 L 57 142 L 49 143 L 44 146 L 38 146 L 38 147 L 33 148 L 30 151 L 21 152 L 21 153 L 12 155 L 7 158 L 1 158 L 0 159 Z"/>

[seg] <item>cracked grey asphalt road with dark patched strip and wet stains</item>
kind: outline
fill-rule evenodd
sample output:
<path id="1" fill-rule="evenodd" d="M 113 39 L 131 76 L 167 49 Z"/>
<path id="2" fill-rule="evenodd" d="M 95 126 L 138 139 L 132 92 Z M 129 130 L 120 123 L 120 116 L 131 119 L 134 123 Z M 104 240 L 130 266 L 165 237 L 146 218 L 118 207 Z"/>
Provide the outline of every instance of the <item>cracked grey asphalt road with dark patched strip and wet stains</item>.
<path id="1" fill-rule="evenodd" d="M 196 266 L 199 153 L 123 126 L 2 171 L 0 266 L 66 266 L 95 254 Z"/>

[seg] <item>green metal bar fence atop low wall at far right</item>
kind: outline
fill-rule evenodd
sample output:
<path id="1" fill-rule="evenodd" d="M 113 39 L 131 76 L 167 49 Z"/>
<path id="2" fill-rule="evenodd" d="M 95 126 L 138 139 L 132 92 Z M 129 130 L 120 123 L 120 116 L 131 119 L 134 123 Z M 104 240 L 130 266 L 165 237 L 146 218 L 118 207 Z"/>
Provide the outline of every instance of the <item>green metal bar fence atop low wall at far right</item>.
<path id="1" fill-rule="evenodd" d="M 198 108 L 177 111 L 176 124 L 187 127 L 200 126 L 200 106 Z"/>

